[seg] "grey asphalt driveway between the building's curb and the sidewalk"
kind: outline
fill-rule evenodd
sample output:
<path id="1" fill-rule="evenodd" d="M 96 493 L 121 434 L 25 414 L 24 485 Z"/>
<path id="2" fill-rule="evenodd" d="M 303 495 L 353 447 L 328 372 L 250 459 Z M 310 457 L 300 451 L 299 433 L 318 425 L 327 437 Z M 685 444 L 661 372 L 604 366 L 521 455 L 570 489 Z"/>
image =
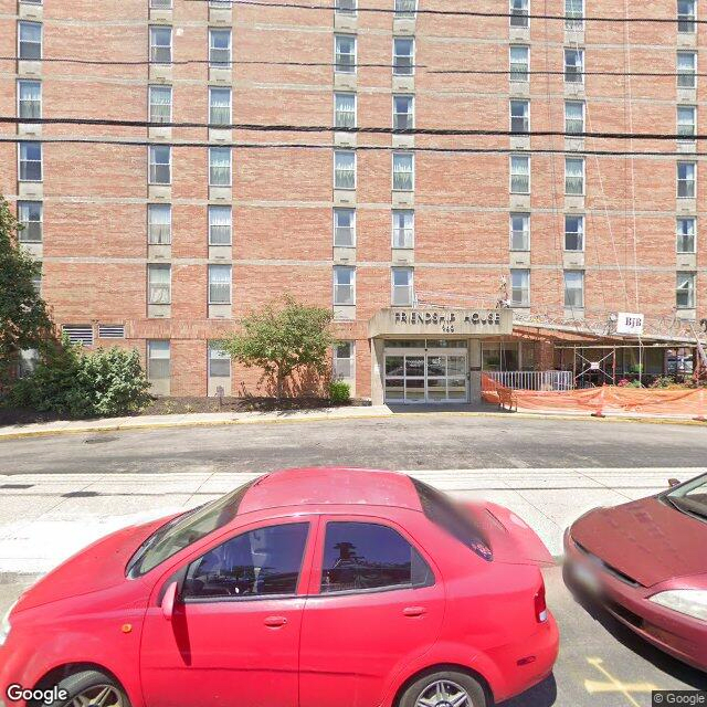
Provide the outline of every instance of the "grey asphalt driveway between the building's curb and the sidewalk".
<path id="1" fill-rule="evenodd" d="M 703 466 L 707 430 L 676 424 L 400 415 L 383 420 L 60 435 L 0 442 L 0 473 Z"/>

